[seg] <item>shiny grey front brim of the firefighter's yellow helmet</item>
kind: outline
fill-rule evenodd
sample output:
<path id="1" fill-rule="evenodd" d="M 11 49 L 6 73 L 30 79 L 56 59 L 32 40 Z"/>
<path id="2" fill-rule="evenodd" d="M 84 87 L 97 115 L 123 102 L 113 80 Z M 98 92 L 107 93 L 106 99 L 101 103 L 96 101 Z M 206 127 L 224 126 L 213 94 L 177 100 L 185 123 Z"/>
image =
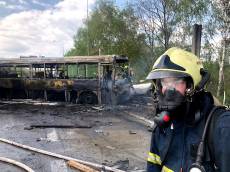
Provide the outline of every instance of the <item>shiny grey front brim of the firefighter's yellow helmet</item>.
<path id="1" fill-rule="evenodd" d="M 161 79 L 161 78 L 184 78 L 189 75 L 182 72 L 174 72 L 174 71 L 152 71 L 146 77 L 147 80 L 152 79 Z"/>

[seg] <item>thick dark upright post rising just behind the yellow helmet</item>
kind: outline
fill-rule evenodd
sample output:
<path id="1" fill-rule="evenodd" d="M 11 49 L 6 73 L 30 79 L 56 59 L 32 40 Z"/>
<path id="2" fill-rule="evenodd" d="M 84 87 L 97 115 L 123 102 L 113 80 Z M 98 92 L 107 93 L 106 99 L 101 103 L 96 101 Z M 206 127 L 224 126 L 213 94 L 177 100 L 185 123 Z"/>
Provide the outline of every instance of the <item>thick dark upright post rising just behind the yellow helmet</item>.
<path id="1" fill-rule="evenodd" d="M 195 24 L 193 26 L 192 52 L 198 57 L 200 57 L 201 34 L 202 25 Z"/>

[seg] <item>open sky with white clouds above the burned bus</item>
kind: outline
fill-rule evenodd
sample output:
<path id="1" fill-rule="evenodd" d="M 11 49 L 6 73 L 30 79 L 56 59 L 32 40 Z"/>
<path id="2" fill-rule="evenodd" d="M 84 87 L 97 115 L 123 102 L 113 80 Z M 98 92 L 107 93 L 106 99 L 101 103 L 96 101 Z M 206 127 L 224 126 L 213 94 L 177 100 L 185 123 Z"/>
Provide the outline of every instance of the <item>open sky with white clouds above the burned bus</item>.
<path id="1" fill-rule="evenodd" d="M 86 0 L 0 0 L 0 58 L 61 57 L 86 17 Z"/>

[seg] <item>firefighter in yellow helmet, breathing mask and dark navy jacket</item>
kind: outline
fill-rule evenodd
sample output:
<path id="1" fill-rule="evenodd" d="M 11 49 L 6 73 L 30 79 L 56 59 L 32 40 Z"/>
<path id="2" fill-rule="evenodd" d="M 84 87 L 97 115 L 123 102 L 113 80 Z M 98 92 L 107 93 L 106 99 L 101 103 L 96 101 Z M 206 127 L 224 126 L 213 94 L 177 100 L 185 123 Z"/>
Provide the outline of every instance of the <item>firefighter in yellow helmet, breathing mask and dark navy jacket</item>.
<path id="1" fill-rule="evenodd" d="M 230 111 L 218 110 L 204 90 L 209 76 L 197 56 L 180 48 L 156 60 L 147 76 L 156 103 L 148 172 L 230 171 Z"/>

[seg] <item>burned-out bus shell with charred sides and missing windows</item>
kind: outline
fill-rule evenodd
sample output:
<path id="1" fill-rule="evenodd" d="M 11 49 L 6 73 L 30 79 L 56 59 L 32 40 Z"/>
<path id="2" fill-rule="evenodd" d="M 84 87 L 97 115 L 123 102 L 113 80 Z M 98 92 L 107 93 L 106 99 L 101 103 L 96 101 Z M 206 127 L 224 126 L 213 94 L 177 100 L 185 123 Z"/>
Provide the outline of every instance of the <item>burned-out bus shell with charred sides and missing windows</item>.
<path id="1" fill-rule="evenodd" d="M 126 56 L 0 59 L 1 99 L 117 104 L 130 95 Z"/>

